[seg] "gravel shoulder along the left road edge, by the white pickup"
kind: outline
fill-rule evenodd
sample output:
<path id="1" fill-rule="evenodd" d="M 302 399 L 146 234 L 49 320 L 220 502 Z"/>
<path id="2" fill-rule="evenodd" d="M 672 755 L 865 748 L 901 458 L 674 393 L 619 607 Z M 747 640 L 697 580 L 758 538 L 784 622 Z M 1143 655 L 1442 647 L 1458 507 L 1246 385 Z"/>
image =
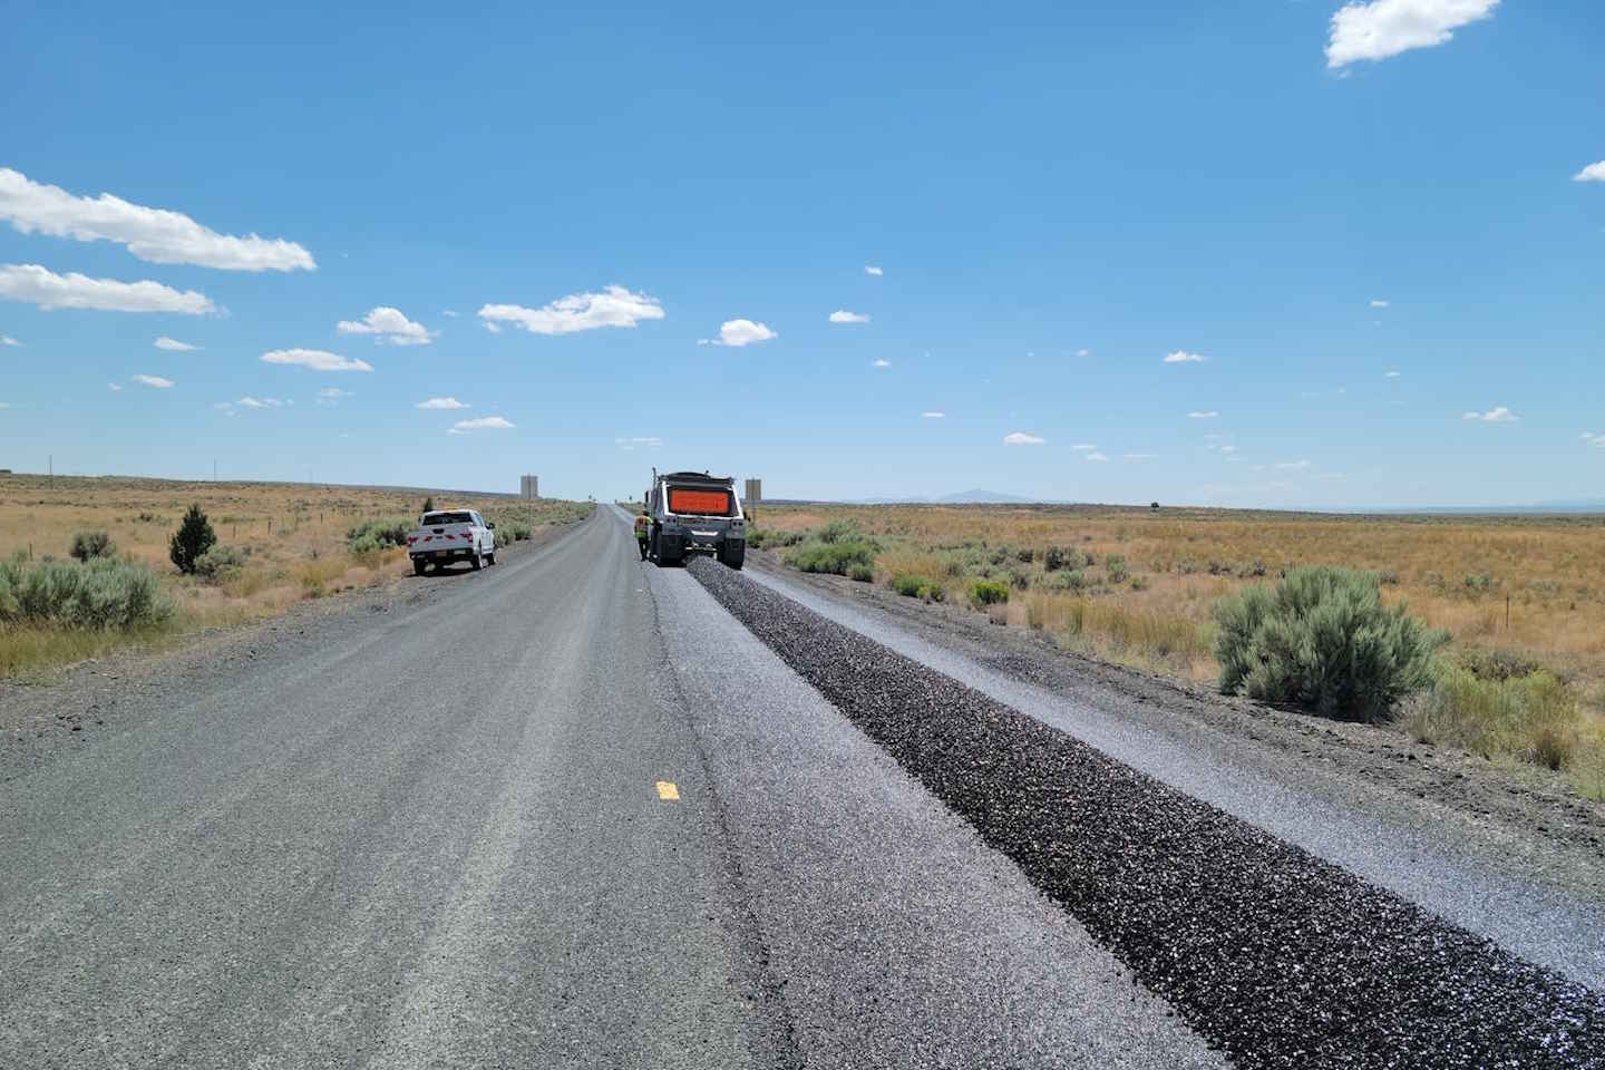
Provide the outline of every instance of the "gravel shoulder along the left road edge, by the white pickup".
<path id="1" fill-rule="evenodd" d="M 239 627 L 205 629 L 165 650 L 127 650 L 51 674 L 43 683 L 0 680 L 0 784 L 56 759 L 82 754 L 109 735 L 138 728 L 173 696 L 197 685 L 226 687 L 247 679 L 258 661 L 315 651 L 374 614 L 427 606 L 459 582 L 496 574 L 581 531 L 586 523 L 542 528 L 526 542 L 502 549 L 498 565 L 478 576 L 454 569 L 403 574 L 361 590 L 297 602 L 284 616 Z"/>

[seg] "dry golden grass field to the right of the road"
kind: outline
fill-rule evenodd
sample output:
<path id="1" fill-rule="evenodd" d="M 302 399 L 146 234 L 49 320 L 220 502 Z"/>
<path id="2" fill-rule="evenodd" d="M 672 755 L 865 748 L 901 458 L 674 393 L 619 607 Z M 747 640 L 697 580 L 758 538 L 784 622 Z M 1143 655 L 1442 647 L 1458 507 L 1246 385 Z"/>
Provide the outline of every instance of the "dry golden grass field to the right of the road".
<path id="1" fill-rule="evenodd" d="M 1578 719 L 1565 733 L 1549 735 L 1563 738 L 1554 746 L 1566 751 L 1565 765 L 1583 778 L 1584 792 L 1605 792 L 1605 783 L 1587 788 L 1589 776 L 1605 781 L 1605 518 L 762 505 L 758 526 L 807 531 L 831 521 L 852 523 L 875 539 L 878 582 L 899 574 L 941 578 L 953 600 L 976 576 L 1002 579 L 1013 587 L 1011 600 L 992 613 L 1010 624 L 1199 683 L 1213 682 L 1218 671 L 1210 621 L 1218 598 L 1262 578 L 1274 581 L 1292 565 L 1377 571 L 1388 600 L 1408 600 L 1414 614 L 1454 637 L 1451 659 L 1517 650 L 1557 677 L 1576 699 Z M 1093 563 L 1072 566 L 1075 579 L 1066 578 L 1071 569 L 1050 573 L 1048 547 L 1090 553 Z M 1021 561 L 1021 550 L 1032 560 Z M 1119 579 L 1119 569 L 1111 574 L 1114 555 L 1125 558 L 1130 579 Z M 1461 740 L 1441 723 L 1436 735 Z M 1510 746 L 1534 754 L 1533 740 L 1522 735 Z"/>

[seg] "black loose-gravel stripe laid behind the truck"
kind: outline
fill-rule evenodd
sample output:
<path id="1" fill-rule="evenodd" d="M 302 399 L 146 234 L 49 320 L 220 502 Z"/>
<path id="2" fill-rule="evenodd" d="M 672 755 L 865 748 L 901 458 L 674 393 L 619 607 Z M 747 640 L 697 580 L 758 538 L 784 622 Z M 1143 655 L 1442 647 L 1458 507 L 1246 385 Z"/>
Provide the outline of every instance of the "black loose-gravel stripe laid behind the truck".
<path id="1" fill-rule="evenodd" d="M 698 581 L 1244 1067 L 1605 1067 L 1605 999 L 714 561 Z"/>

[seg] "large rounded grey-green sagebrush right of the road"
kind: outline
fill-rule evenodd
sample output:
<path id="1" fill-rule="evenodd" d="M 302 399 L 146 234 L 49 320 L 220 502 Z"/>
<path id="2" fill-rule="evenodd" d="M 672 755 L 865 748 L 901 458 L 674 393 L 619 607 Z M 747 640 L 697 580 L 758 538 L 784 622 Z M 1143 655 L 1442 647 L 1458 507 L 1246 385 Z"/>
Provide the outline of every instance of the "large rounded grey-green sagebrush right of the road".
<path id="1" fill-rule="evenodd" d="M 1448 635 L 1384 606 L 1375 573 L 1300 566 L 1274 587 L 1255 584 L 1213 608 L 1220 690 L 1287 703 L 1324 717 L 1382 720 L 1432 683 Z"/>

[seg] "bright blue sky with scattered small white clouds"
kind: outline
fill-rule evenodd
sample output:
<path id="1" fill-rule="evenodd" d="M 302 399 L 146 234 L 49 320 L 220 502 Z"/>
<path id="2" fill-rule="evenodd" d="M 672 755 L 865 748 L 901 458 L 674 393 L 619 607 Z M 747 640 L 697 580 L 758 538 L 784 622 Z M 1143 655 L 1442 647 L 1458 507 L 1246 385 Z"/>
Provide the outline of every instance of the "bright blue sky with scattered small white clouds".
<path id="1" fill-rule="evenodd" d="M 1605 496 L 1592 0 L 226 6 L 6 8 L 0 467 Z"/>

